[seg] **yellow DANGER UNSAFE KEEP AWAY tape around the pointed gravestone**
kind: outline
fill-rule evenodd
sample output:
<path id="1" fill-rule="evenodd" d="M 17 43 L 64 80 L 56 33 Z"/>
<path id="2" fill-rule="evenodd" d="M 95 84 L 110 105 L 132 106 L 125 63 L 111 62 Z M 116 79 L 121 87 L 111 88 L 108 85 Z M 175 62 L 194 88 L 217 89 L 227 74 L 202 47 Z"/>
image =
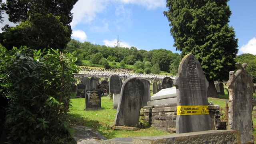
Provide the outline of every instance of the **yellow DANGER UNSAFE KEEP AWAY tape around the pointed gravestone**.
<path id="1" fill-rule="evenodd" d="M 177 106 L 177 115 L 209 114 L 208 106 Z"/>

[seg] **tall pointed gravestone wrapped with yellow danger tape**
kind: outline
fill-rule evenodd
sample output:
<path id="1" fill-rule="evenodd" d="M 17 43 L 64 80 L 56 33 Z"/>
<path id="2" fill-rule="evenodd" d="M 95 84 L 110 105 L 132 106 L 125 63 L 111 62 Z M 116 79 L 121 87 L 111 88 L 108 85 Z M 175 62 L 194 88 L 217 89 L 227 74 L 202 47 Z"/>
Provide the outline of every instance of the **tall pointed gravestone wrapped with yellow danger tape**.
<path id="1" fill-rule="evenodd" d="M 193 54 L 187 54 L 181 60 L 174 85 L 177 94 L 176 133 L 212 130 L 207 99 L 209 83 Z"/>

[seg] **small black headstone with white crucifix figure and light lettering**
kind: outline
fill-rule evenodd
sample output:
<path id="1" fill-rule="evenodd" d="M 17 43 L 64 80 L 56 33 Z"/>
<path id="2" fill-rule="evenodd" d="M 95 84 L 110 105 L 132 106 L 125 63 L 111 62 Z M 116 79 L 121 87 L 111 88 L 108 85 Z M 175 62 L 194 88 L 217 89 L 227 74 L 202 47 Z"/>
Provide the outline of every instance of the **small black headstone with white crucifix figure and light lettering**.
<path id="1" fill-rule="evenodd" d="M 101 108 L 100 90 L 85 90 L 85 94 L 85 110 L 94 110 Z"/>

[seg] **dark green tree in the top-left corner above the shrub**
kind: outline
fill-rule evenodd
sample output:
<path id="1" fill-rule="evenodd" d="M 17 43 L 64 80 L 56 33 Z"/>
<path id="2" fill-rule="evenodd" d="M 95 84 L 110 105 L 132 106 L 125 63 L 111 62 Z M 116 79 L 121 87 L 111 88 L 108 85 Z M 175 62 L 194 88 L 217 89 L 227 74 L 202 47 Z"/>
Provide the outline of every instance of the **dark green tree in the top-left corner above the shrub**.
<path id="1" fill-rule="evenodd" d="M 20 23 L 15 28 L 7 28 L 2 33 L 2 45 L 29 46 L 34 49 L 63 49 L 72 34 L 70 12 L 77 0 L 6 0 L 2 9 L 6 10 L 10 22 Z"/>

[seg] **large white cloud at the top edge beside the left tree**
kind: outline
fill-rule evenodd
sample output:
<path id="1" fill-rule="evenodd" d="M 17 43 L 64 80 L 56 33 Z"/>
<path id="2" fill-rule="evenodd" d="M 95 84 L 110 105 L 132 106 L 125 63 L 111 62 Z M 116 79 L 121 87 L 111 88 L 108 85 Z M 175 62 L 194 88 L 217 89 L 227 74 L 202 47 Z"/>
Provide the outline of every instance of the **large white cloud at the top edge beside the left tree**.
<path id="1" fill-rule="evenodd" d="M 72 9 L 73 20 L 70 23 L 72 29 L 77 24 L 90 23 L 96 18 L 96 13 L 104 11 L 108 0 L 78 0 Z"/>

